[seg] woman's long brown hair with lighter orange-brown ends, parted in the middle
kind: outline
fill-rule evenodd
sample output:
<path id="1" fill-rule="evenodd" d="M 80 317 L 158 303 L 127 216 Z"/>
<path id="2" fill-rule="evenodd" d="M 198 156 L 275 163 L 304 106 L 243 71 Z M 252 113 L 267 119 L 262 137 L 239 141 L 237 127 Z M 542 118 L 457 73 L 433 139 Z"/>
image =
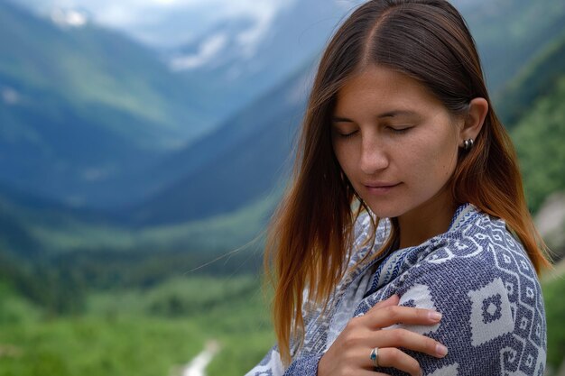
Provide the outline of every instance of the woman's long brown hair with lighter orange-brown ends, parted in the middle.
<path id="1" fill-rule="evenodd" d="M 489 110 L 475 146 L 459 154 L 450 179 L 454 201 L 504 219 L 536 271 L 549 264 L 526 206 L 514 147 L 493 110 L 461 15 L 444 0 L 369 1 L 341 25 L 320 60 L 292 183 L 267 238 L 265 269 L 275 283 L 273 319 L 283 362 L 290 362 L 291 342 L 303 338 L 304 298 L 324 305 L 345 272 L 353 203 L 364 203 L 339 168 L 329 124 L 339 88 L 370 64 L 418 80 L 453 115 L 463 114 L 475 97 L 486 99 Z"/>

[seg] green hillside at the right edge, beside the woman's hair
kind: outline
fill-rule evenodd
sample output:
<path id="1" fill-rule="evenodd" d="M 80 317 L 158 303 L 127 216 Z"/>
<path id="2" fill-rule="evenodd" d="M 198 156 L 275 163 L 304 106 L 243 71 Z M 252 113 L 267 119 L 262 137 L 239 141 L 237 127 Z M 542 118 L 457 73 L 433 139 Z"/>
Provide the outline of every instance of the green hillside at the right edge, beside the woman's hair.
<path id="1" fill-rule="evenodd" d="M 565 190 L 565 34 L 526 66 L 508 91 L 523 113 L 511 128 L 535 212 L 551 193 Z"/>

